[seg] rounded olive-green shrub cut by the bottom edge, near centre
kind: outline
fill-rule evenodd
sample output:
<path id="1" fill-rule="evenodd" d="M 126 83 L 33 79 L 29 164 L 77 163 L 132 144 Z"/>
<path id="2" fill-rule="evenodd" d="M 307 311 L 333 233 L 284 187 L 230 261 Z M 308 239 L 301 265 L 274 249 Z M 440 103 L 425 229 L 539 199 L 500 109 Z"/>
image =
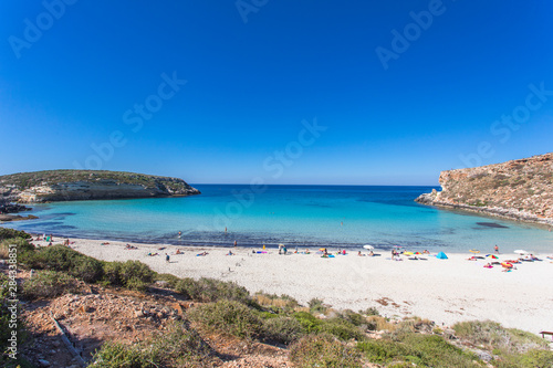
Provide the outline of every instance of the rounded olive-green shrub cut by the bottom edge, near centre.
<path id="1" fill-rule="evenodd" d="M 362 367 L 359 353 L 328 335 L 307 335 L 290 347 L 290 359 L 299 368 Z"/>

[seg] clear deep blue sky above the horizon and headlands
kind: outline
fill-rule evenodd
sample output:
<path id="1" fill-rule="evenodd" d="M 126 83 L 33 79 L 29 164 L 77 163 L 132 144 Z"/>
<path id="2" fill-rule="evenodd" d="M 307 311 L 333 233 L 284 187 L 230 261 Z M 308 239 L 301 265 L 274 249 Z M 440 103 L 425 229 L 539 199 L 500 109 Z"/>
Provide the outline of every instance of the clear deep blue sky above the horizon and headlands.
<path id="1" fill-rule="evenodd" d="M 0 3 L 0 175 L 436 185 L 552 150 L 550 1 L 65 1 Z"/>

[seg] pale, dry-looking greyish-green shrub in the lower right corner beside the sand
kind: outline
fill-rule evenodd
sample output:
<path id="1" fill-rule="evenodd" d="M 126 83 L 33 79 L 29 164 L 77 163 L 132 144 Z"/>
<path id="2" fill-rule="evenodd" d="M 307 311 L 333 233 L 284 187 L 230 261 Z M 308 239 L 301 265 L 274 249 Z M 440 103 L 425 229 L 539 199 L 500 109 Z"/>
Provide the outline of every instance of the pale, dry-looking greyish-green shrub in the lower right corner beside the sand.
<path id="1" fill-rule="evenodd" d="M 453 325 L 453 329 L 457 336 L 502 354 L 525 353 L 547 347 L 547 343 L 539 336 L 517 328 L 504 328 L 491 320 L 461 322 Z"/>

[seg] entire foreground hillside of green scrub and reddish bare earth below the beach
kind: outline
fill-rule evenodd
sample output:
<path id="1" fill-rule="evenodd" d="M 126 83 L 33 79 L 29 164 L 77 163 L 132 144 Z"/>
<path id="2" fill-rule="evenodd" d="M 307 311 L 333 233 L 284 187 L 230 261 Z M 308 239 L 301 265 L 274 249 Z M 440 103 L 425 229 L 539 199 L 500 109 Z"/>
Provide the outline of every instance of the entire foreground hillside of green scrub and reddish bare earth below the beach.
<path id="1" fill-rule="evenodd" d="M 316 298 L 300 305 L 231 282 L 158 274 L 138 261 L 35 248 L 30 235 L 11 229 L 0 229 L 0 241 L 2 367 L 553 365 L 546 340 L 490 320 L 444 327 L 383 317 L 374 308 L 335 311 Z M 10 244 L 20 267 L 17 360 L 8 355 Z"/>

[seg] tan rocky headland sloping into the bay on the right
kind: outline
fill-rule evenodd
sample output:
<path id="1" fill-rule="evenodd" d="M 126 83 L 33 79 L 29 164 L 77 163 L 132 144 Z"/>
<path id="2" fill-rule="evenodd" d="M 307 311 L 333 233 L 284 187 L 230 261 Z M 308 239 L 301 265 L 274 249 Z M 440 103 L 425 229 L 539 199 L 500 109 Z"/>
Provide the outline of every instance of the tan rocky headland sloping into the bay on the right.
<path id="1" fill-rule="evenodd" d="M 553 225 L 553 153 L 442 171 L 439 182 L 416 201 Z"/>

